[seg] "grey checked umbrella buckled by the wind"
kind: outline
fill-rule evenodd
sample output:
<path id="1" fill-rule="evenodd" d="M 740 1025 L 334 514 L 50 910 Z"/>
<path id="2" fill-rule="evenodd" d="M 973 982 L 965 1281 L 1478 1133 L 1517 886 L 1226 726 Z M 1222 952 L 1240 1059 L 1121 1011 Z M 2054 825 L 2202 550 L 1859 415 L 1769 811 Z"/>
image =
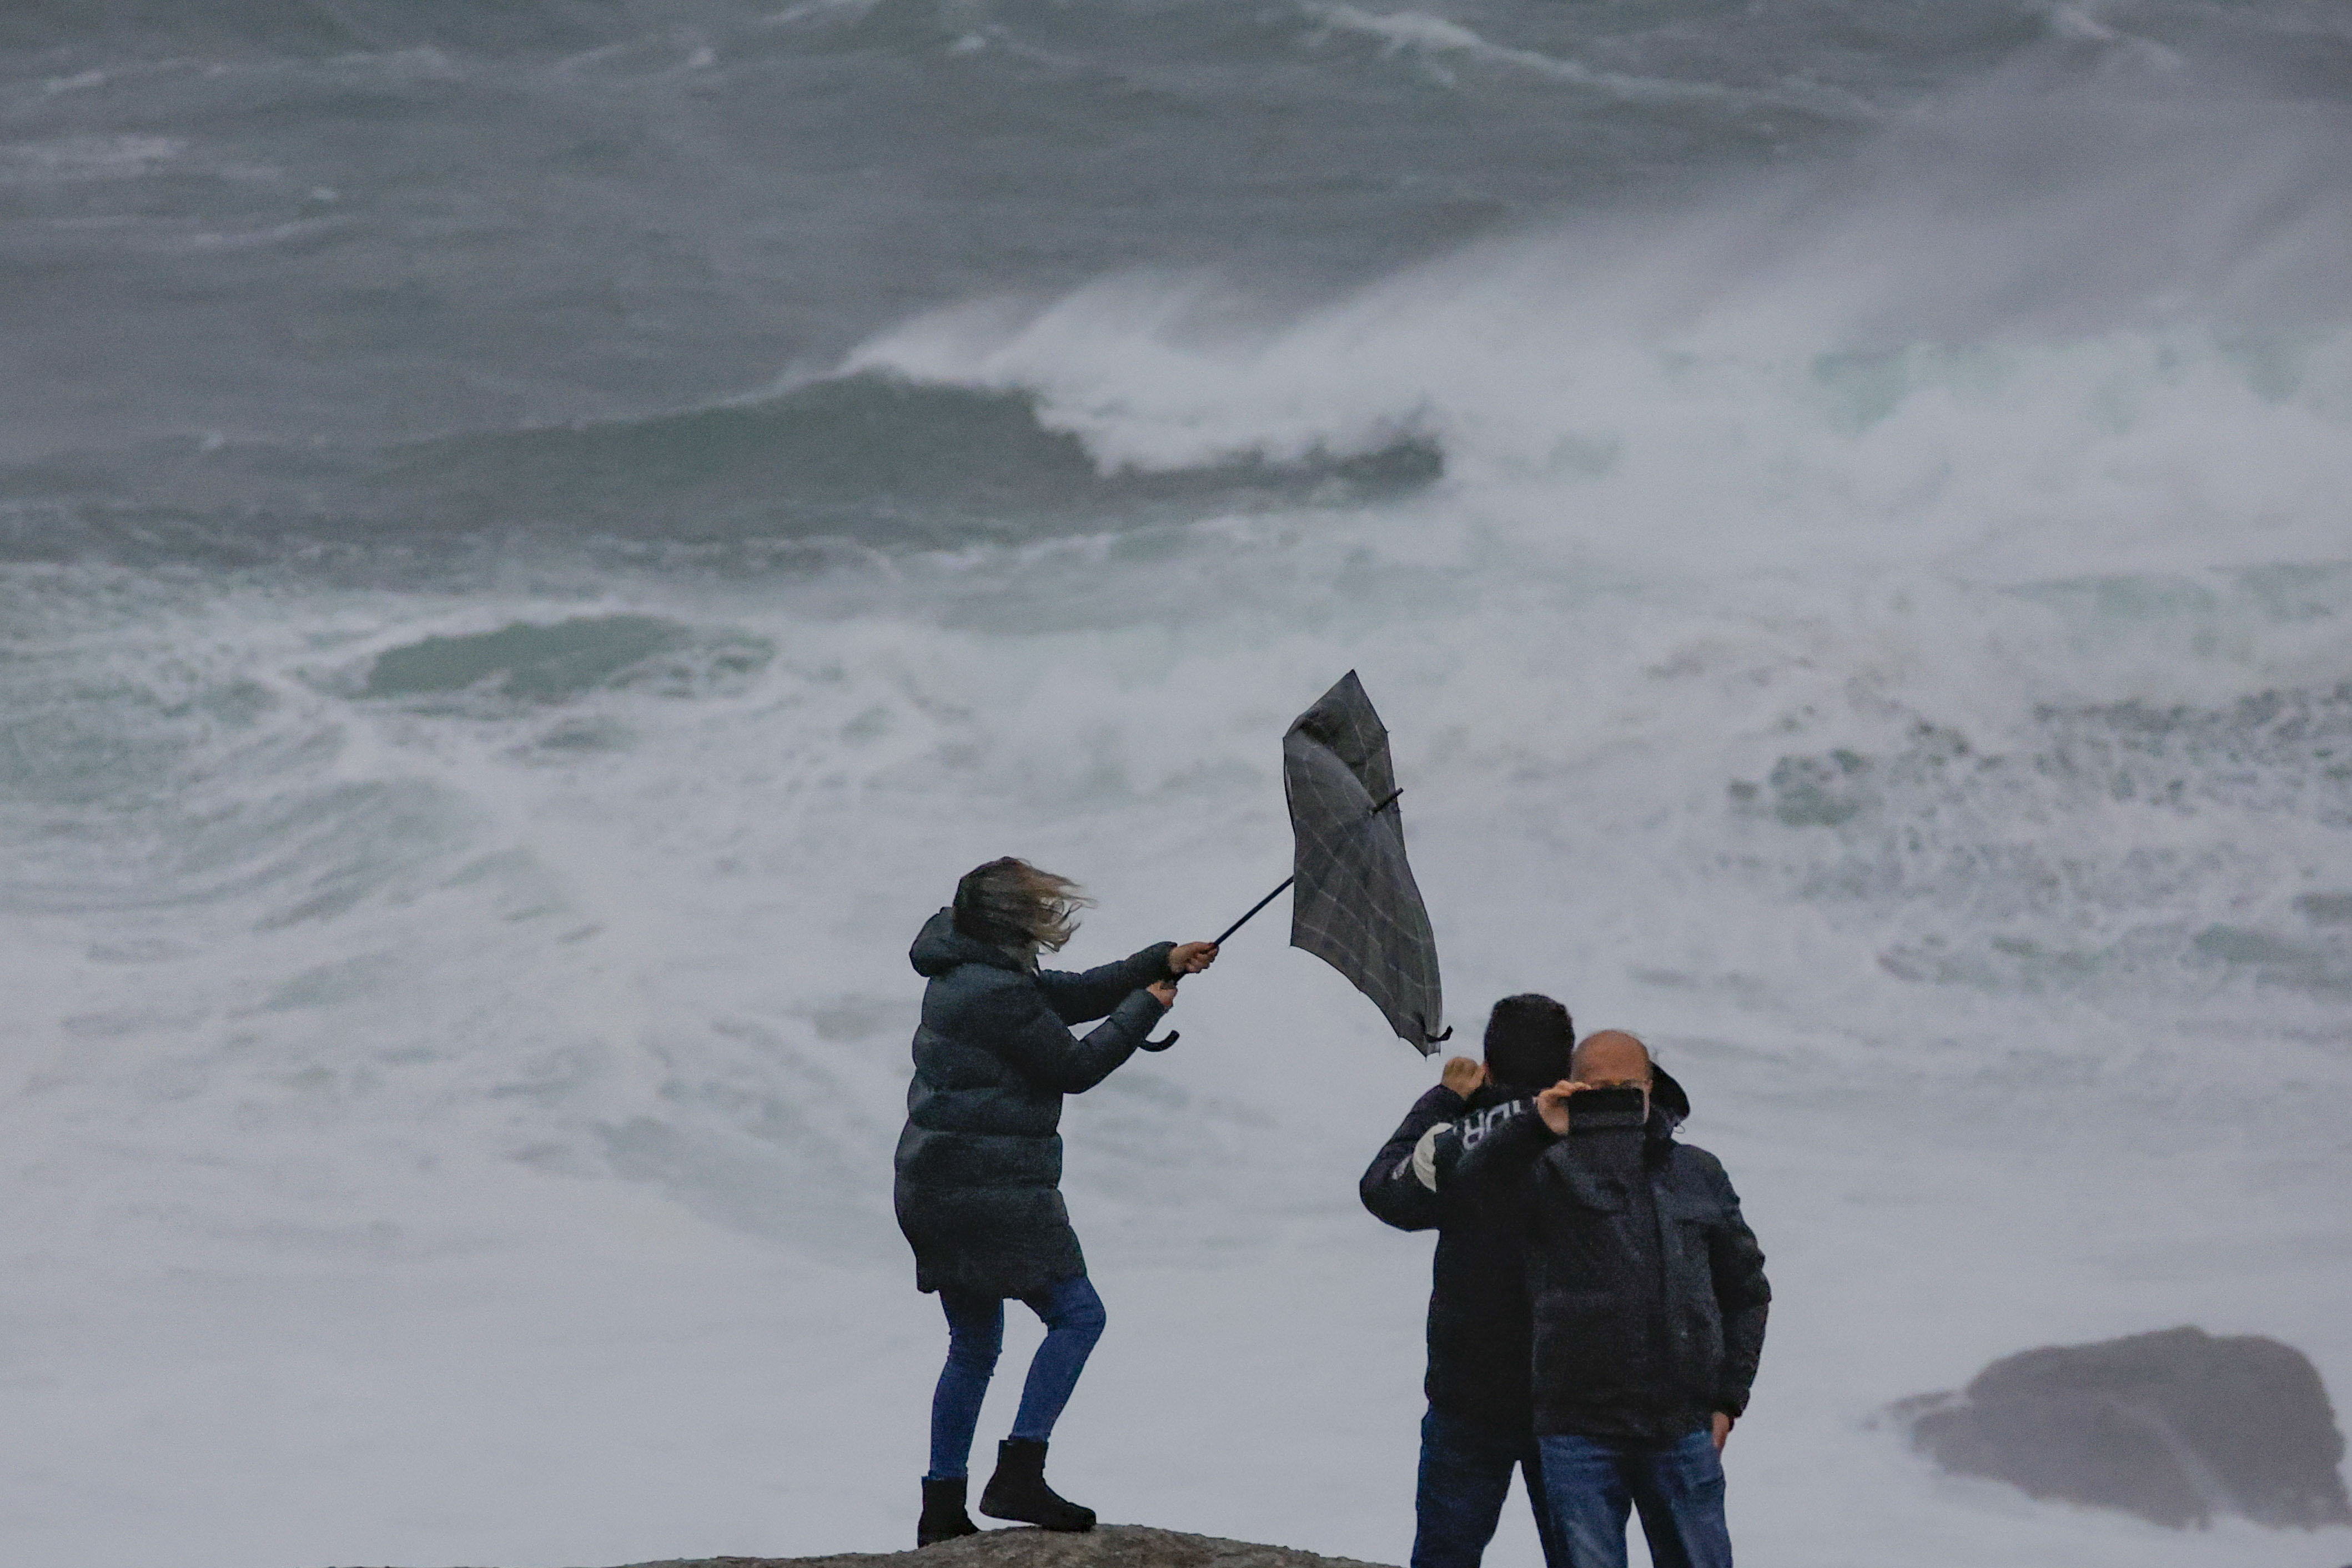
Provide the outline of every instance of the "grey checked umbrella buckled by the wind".
<path id="1" fill-rule="evenodd" d="M 1216 940 L 1296 886 L 1291 947 L 1348 976 L 1404 1044 L 1430 1056 L 1454 1034 L 1437 1032 L 1437 938 L 1404 860 L 1404 790 L 1388 759 L 1388 726 L 1355 670 L 1282 736 L 1282 792 L 1291 802 L 1294 872 Z"/>

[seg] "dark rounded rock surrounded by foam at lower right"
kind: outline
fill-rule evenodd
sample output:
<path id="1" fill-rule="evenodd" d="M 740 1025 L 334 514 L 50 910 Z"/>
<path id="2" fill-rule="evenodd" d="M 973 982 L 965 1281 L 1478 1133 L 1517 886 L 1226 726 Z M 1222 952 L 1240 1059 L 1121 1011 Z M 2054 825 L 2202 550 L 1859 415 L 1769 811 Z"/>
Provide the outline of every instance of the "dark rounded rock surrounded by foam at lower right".
<path id="1" fill-rule="evenodd" d="M 2310 1359 L 2258 1335 L 2166 1328 L 1994 1361 L 1959 1394 L 1893 1406 L 1957 1476 L 2187 1528 L 2352 1523 L 2345 1439 Z"/>

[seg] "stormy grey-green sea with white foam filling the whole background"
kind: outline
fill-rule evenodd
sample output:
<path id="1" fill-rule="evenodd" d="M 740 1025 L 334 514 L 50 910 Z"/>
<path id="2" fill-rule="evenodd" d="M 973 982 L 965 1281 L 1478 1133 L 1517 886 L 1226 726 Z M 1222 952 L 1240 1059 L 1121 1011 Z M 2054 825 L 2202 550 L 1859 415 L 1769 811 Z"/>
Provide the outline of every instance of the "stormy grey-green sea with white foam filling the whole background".
<path id="1" fill-rule="evenodd" d="M 1745 1563 L 2336 1568 L 1882 1410 L 2352 1399 L 2347 496 L 2336 0 L 12 0 L 0 1556 L 910 1547 L 908 940 L 1211 936 L 1357 670 L 1456 1041 L 1745 1199 Z M 1068 1107 L 1054 1474 L 1402 1561 L 1435 1065 L 1284 922 Z"/>

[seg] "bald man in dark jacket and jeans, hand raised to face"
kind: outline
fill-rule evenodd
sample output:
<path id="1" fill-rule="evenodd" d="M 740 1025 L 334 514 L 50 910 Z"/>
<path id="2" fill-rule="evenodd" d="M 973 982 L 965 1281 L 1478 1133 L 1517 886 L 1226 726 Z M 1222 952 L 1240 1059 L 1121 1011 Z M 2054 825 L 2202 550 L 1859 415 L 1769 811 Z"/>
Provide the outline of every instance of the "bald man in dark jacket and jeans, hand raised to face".
<path id="1" fill-rule="evenodd" d="M 1722 1448 L 1748 1408 L 1771 1286 L 1722 1164 L 1675 1140 L 1649 1048 L 1588 1034 L 1569 1077 L 1454 1168 L 1524 1213 L 1536 1450 L 1566 1568 L 1731 1568 Z M 1628 1093 L 1585 1100 L 1616 1088 Z"/>

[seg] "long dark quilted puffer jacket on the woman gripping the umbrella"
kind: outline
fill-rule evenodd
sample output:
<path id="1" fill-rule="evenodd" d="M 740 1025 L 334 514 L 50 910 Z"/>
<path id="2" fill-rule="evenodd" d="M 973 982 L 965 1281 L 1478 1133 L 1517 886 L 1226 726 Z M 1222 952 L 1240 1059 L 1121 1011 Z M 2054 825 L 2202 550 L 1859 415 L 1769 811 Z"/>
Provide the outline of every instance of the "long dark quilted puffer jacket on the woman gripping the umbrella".
<path id="1" fill-rule="evenodd" d="M 1070 976 L 964 936 L 948 910 L 922 926 L 908 959 L 931 985 L 896 1187 L 915 1288 L 1023 1298 L 1087 1272 L 1061 1201 L 1061 1098 L 1110 1077 L 1160 1023 L 1143 987 L 1169 978 L 1174 945 Z M 1094 1018 L 1105 1023 L 1070 1034 Z"/>

